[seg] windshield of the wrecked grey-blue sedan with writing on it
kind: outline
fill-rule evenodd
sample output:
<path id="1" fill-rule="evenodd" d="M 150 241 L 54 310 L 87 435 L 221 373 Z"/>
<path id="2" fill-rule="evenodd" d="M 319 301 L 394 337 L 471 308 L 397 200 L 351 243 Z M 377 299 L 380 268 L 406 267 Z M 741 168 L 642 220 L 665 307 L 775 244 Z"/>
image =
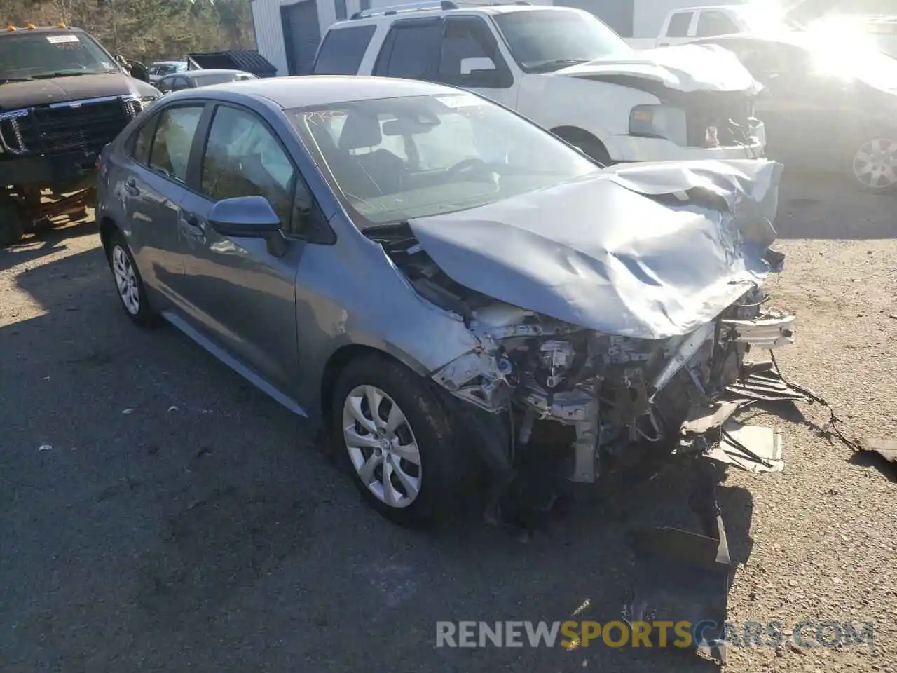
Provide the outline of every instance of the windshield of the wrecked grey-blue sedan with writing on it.
<path id="1" fill-rule="evenodd" d="M 600 170 L 468 93 L 295 109 L 291 118 L 361 228 L 475 208 Z"/>

